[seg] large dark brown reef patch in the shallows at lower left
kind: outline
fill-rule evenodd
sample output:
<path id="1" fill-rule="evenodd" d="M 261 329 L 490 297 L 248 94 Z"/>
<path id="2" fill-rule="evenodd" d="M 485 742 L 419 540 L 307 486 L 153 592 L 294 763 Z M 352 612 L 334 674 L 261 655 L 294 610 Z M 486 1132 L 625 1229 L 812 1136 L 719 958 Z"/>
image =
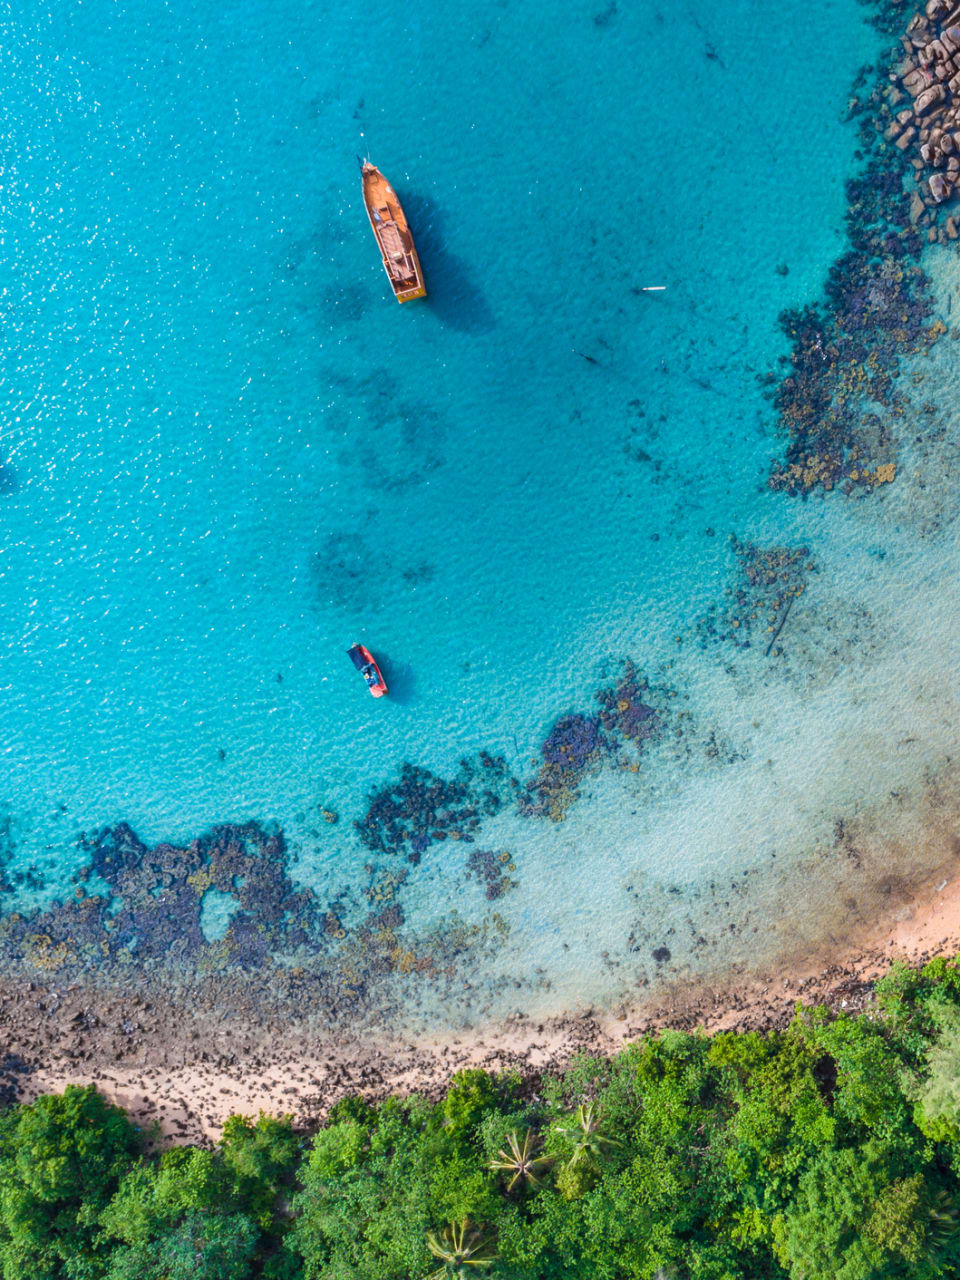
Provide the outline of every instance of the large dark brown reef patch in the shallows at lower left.
<path id="1" fill-rule="evenodd" d="M 406 927 L 399 893 L 407 872 L 371 865 L 367 909 L 324 902 L 291 878 L 284 836 L 257 823 L 221 826 L 189 845 L 145 845 L 125 824 L 83 838 L 87 861 L 72 899 L 0 920 L 6 974 L 143 993 L 209 988 L 218 1007 L 252 1011 L 269 1002 L 332 1019 L 385 1016 L 378 979 L 419 974 L 453 980 L 454 961 L 506 936 L 499 916 L 465 923 L 456 913 L 426 932 Z M 507 887 L 506 884 L 503 886 Z M 489 890 L 489 882 L 488 882 Z M 223 936 L 201 927 L 204 900 L 229 902 Z M 489 891 L 486 897 L 498 896 Z"/>

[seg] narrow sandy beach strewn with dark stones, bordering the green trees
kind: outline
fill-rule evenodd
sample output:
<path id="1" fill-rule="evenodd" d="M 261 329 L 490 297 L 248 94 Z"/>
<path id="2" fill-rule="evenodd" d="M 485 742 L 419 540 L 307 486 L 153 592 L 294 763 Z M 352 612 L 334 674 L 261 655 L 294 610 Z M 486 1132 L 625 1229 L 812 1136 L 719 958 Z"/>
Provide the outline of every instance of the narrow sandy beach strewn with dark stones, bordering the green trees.
<path id="1" fill-rule="evenodd" d="M 850 942 L 750 975 L 677 984 L 630 1012 L 515 1015 L 499 1027 L 416 1043 L 291 1034 L 229 1016 L 207 1023 L 136 995 L 8 983 L 0 988 L 0 1082 L 20 1102 L 67 1084 L 95 1084 L 137 1124 L 156 1125 L 160 1142 L 209 1143 L 234 1112 L 291 1114 L 310 1128 L 344 1094 L 438 1096 L 466 1066 L 516 1069 L 535 1079 L 579 1051 L 611 1053 L 648 1032 L 781 1027 L 799 1000 L 854 1012 L 869 1004 L 893 960 L 918 964 L 960 950 L 960 874 L 943 881 L 936 873 L 884 925 Z"/>

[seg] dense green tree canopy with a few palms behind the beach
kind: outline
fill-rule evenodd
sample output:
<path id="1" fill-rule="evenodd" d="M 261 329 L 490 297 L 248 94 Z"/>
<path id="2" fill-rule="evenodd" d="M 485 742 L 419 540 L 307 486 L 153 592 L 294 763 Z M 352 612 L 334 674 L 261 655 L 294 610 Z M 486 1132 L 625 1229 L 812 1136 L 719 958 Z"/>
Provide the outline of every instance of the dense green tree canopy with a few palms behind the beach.
<path id="1" fill-rule="evenodd" d="M 960 963 L 860 1016 L 462 1071 L 314 1135 L 146 1151 L 68 1088 L 0 1116 L 0 1280 L 960 1280 Z"/>

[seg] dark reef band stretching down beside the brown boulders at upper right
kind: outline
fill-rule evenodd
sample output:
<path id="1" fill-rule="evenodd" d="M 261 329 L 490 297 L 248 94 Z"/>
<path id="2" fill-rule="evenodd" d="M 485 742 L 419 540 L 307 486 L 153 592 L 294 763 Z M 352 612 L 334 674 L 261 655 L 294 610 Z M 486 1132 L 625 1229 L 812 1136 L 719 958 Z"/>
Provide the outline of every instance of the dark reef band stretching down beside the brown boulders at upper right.
<path id="1" fill-rule="evenodd" d="M 877 26 L 893 29 L 899 8 L 881 6 Z M 791 352 L 782 374 L 765 379 L 787 436 L 786 457 L 771 472 L 773 489 L 852 494 L 896 477 L 897 431 L 911 403 L 897 383 L 902 364 L 947 332 L 932 319 L 919 259 L 928 243 L 948 244 L 959 234 L 945 207 L 960 175 L 960 106 L 952 100 L 954 79 L 960 90 L 959 18 L 959 6 L 931 0 L 902 38 L 906 58 L 896 46 L 884 67 L 865 68 L 861 82 L 873 88 L 850 101 L 850 114 L 861 118 L 864 160 L 846 184 L 850 248 L 831 269 L 824 300 L 781 317 Z M 910 95 L 914 104 L 904 108 Z M 943 172 L 925 179 L 928 165 Z"/>

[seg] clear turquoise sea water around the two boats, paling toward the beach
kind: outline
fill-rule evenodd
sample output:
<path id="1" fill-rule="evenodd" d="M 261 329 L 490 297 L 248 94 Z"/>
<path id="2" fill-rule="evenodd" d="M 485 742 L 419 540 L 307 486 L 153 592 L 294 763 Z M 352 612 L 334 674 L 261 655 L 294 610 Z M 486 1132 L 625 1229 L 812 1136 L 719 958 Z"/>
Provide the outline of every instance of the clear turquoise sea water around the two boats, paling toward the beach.
<path id="1" fill-rule="evenodd" d="M 844 248 L 863 18 L 0 4 L 8 910 L 73 892 L 81 832 L 273 824 L 348 936 L 401 868 L 408 941 L 484 931 L 453 979 L 383 977 L 442 1025 L 815 942 L 844 886 L 861 922 L 884 867 L 950 854 L 955 424 L 863 500 L 765 484 L 758 378 Z M 357 154 L 422 305 L 389 294 Z M 704 640 L 731 534 L 809 548 L 782 653 L 765 622 Z M 404 762 L 485 750 L 522 787 L 625 658 L 682 710 L 636 771 L 420 860 L 362 844 Z M 204 897 L 209 942 L 236 910 Z"/>

